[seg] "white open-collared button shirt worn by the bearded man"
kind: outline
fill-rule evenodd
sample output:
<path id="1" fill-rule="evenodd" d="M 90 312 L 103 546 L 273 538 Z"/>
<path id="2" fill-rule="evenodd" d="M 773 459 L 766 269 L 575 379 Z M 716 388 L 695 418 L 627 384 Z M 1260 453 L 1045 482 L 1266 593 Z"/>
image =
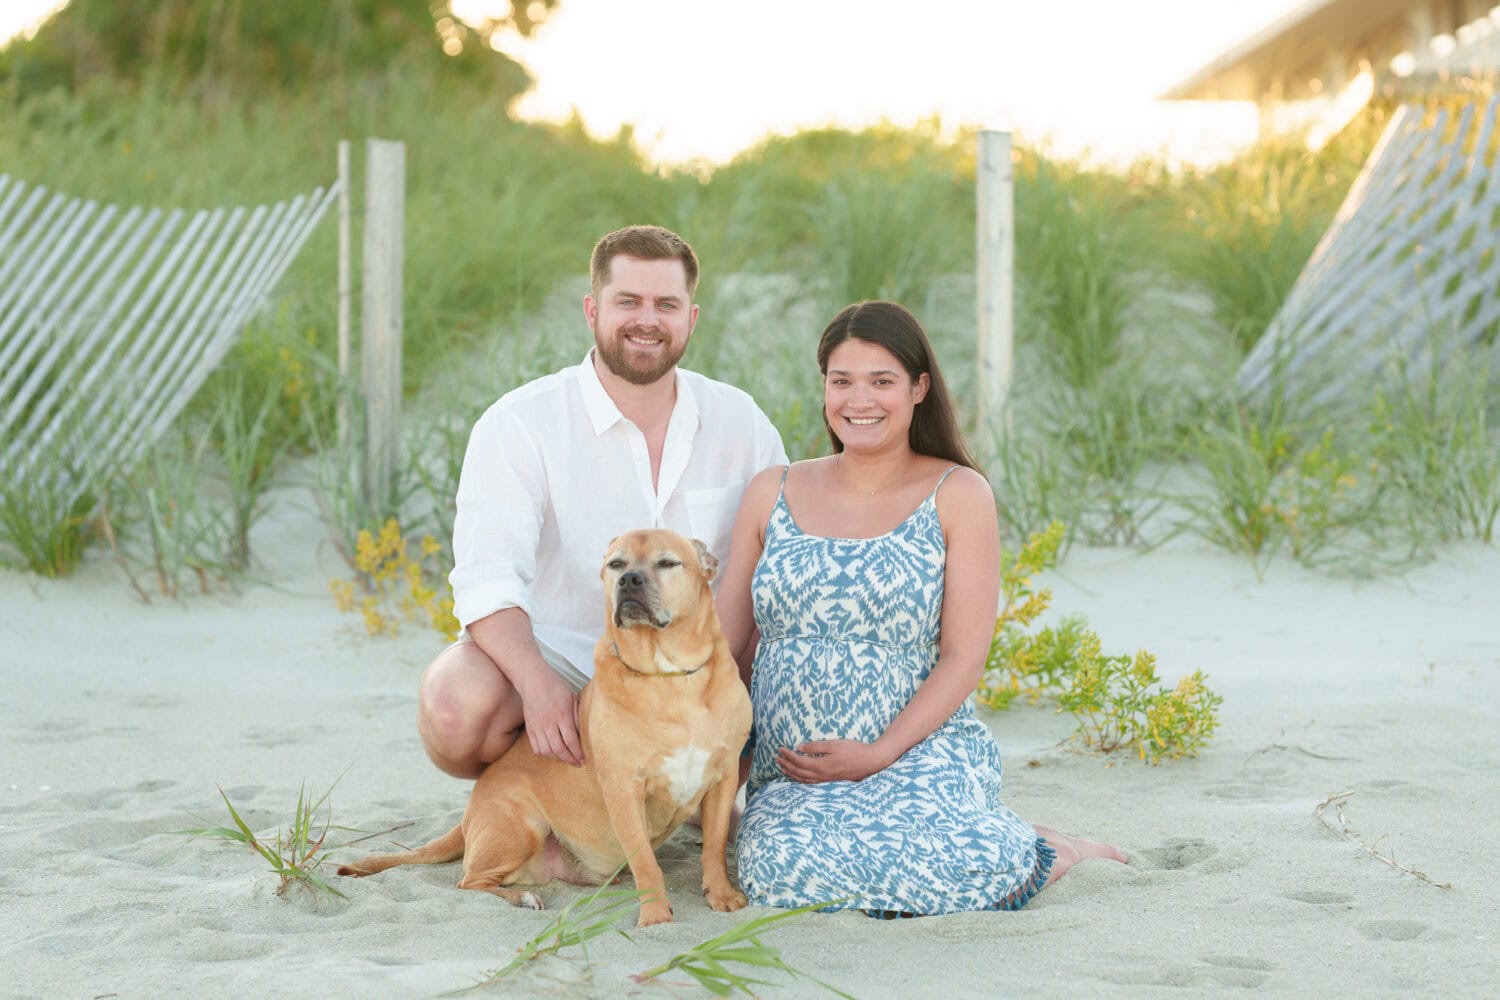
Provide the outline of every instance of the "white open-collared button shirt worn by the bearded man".
<path id="1" fill-rule="evenodd" d="M 676 370 L 657 487 L 646 439 L 582 364 L 500 397 L 474 424 L 453 522 L 453 613 L 465 627 L 506 607 L 585 675 L 604 628 L 610 540 L 669 528 L 720 561 L 746 484 L 784 465 L 782 436 L 750 396 Z"/>

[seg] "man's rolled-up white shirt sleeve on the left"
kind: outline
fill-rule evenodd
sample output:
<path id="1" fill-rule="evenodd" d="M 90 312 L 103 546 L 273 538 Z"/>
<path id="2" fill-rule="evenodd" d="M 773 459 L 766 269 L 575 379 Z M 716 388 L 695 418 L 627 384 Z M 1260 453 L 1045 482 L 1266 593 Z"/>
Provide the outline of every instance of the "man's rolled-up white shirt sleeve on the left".
<path id="1" fill-rule="evenodd" d="M 537 441 L 506 406 L 470 433 L 453 519 L 453 615 L 465 628 L 506 607 L 532 615 L 546 472 Z"/>

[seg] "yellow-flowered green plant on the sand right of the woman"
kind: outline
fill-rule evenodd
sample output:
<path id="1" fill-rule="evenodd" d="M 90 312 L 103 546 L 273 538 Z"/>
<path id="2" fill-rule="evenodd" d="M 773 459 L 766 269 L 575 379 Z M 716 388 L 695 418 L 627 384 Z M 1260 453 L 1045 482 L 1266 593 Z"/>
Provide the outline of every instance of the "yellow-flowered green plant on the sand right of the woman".
<path id="1" fill-rule="evenodd" d="M 1016 699 L 1030 705 L 1054 699 L 1059 711 L 1076 718 L 1072 739 L 1088 750 L 1134 750 L 1154 765 L 1162 757 L 1197 756 L 1218 727 L 1222 703 L 1202 672 L 1161 688 L 1155 657 L 1144 651 L 1104 655 L 1100 637 L 1080 616 L 1028 633 L 1052 603 L 1052 592 L 1034 588 L 1032 577 L 1052 567 L 1062 537 L 1062 523 L 1053 522 L 1000 568 L 1005 604 L 980 678 L 980 703 L 1008 709 Z"/>

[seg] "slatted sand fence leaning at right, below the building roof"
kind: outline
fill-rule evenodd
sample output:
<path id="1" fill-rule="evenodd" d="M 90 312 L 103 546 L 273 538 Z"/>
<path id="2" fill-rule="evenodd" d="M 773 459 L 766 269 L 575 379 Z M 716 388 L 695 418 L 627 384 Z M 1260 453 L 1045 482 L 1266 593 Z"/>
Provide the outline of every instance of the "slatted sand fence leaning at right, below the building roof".
<path id="1" fill-rule="evenodd" d="M 1400 363 L 1431 370 L 1500 331 L 1500 96 L 1404 105 L 1239 369 L 1316 402 Z"/>

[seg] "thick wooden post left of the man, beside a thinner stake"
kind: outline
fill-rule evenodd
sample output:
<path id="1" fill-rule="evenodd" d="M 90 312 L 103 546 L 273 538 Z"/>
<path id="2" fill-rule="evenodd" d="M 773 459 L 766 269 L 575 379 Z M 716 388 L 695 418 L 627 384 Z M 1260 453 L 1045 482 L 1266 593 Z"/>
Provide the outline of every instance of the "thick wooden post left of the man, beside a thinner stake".
<path id="1" fill-rule="evenodd" d="M 364 279 L 360 361 L 364 387 L 364 499 L 392 513 L 400 460 L 402 223 L 406 147 L 364 145 Z"/>

